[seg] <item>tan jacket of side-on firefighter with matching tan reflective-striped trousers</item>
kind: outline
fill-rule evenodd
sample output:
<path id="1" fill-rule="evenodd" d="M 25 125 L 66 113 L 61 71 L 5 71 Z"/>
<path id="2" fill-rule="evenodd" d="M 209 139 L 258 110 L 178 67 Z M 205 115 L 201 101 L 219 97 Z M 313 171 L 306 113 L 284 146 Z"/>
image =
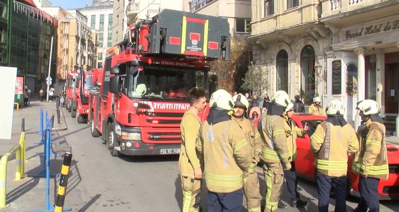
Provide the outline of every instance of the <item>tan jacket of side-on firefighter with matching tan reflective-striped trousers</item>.
<path id="1" fill-rule="evenodd" d="M 263 113 L 258 129 L 263 140 L 262 160 L 265 163 L 282 163 L 291 169 L 291 159 L 285 134 L 284 118 Z"/>

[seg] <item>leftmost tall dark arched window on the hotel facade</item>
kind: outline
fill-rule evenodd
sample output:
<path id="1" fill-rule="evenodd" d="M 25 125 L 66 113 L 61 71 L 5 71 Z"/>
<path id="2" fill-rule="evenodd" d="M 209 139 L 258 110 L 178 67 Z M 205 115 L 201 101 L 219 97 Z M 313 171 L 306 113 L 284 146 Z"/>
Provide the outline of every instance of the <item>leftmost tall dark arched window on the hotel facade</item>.
<path id="1" fill-rule="evenodd" d="M 277 90 L 288 93 L 288 53 L 280 50 L 276 57 L 277 67 Z"/>

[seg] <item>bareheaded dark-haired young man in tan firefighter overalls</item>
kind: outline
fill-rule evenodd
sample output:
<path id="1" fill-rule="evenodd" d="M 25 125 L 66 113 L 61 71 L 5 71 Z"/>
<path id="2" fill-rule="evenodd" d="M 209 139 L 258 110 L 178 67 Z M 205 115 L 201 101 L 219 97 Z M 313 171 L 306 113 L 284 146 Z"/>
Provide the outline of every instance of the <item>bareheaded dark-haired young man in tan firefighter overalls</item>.
<path id="1" fill-rule="evenodd" d="M 201 126 L 198 113 L 206 106 L 207 91 L 192 88 L 188 92 L 190 108 L 184 113 L 180 123 L 181 150 L 179 157 L 180 180 L 183 190 L 183 212 L 198 212 L 202 183 L 201 155 L 196 152 L 198 130 Z"/>

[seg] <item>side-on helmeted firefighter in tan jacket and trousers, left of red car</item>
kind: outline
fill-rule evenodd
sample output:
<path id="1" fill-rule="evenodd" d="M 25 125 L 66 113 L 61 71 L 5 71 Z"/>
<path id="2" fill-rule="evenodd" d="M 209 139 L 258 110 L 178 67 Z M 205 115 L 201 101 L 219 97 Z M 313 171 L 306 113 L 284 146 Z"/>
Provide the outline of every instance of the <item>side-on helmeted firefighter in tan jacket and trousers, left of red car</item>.
<path id="1" fill-rule="evenodd" d="M 262 161 L 265 176 L 265 212 L 277 211 L 284 171 L 291 169 L 283 115 L 292 108 L 290 97 L 285 91 L 274 93 L 271 105 L 259 119 L 258 130 L 263 140 Z"/>

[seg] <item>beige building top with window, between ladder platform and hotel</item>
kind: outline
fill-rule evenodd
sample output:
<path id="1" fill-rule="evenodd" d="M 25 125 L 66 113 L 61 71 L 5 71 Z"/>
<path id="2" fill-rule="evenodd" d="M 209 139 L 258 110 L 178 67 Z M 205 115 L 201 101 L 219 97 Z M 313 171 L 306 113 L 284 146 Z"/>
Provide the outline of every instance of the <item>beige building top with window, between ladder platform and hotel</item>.
<path id="1" fill-rule="evenodd" d="M 233 39 L 250 35 L 251 0 L 184 0 L 184 11 L 227 18 Z"/>

